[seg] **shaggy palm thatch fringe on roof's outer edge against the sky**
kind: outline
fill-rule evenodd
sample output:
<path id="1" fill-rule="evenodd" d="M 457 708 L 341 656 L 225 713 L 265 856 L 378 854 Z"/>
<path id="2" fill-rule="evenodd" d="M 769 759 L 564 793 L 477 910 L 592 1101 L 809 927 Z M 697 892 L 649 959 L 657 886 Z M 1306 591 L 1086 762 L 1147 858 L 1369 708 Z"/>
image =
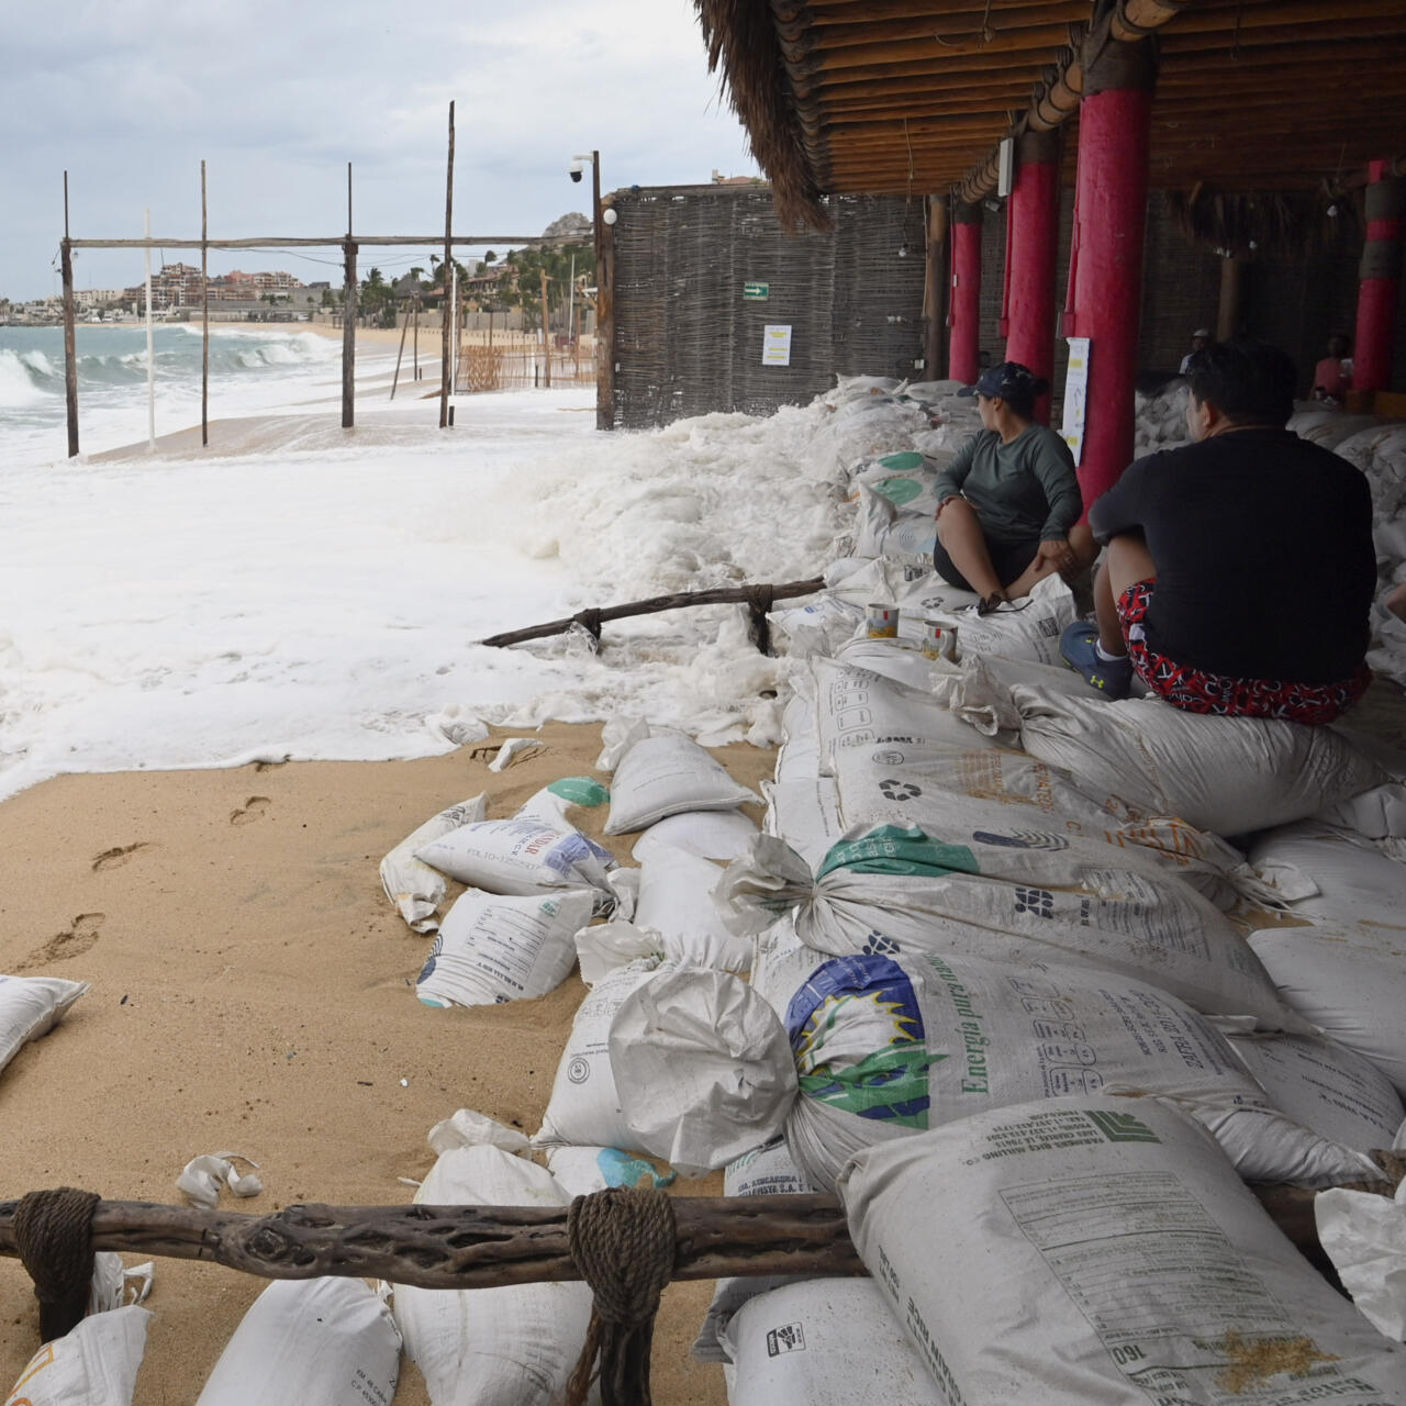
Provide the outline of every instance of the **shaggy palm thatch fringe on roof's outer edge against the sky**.
<path id="1" fill-rule="evenodd" d="M 709 72 L 723 70 L 728 103 L 772 183 L 782 228 L 830 229 L 769 0 L 695 0 L 695 6 L 707 44 Z"/>

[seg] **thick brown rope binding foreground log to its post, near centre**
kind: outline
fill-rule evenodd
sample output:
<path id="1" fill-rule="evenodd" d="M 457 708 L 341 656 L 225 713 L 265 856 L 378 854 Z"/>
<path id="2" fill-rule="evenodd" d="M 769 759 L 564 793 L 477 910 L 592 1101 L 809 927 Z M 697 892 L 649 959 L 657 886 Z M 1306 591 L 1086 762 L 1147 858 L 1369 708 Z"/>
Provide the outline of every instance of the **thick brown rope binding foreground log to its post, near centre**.
<path id="1" fill-rule="evenodd" d="M 567 1406 L 585 1406 L 598 1354 L 602 1406 L 651 1406 L 654 1315 L 673 1277 L 672 1201 L 662 1191 L 628 1187 L 576 1197 L 567 1211 L 567 1241 L 595 1295 Z"/>

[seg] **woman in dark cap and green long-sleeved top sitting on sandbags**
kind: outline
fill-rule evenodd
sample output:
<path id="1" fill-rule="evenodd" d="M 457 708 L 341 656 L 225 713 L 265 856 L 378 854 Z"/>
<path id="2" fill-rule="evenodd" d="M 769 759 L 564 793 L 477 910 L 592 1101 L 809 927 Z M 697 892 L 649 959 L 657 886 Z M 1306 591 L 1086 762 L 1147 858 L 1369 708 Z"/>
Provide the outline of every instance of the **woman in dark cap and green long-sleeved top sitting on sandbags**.
<path id="1" fill-rule="evenodd" d="M 976 396 L 984 429 L 938 475 L 932 565 L 981 598 L 977 614 L 1094 560 L 1092 536 L 1076 527 L 1084 502 L 1074 458 L 1059 434 L 1032 420 L 1047 389 L 1029 367 L 1002 361 L 957 392 Z"/>

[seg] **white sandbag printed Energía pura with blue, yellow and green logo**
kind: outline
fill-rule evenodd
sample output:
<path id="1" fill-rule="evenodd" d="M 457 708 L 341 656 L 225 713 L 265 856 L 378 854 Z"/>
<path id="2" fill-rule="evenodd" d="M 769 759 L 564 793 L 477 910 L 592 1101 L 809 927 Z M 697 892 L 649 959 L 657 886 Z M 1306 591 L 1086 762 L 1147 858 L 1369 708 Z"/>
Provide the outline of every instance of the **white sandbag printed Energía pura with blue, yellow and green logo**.
<path id="1" fill-rule="evenodd" d="M 1029 1098 L 1156 1092 L 1215 1133 L 1251 1181 L 1327 1185 L 1369 1159 L 1278 1112 L 1223 1035 L 1142 981 L 977 957 L 842 957 L 792 997 L 796 1166 L 834 1185 L 873 1142 Z"/>

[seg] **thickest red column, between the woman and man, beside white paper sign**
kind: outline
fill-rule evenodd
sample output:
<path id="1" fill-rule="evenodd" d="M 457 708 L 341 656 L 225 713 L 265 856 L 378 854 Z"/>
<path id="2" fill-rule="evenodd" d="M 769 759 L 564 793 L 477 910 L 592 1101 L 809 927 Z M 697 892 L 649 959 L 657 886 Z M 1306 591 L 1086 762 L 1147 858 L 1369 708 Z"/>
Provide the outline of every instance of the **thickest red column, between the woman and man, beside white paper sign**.
<path id="1" fill-rule="evenodd" d="M 1088 411 L 1078 481 L 1087 509 L 1133 456 L 1147 146 L 1156 82 L 1152 42 L 1108 41 L 1084 70 L 1074 194 L 1073 326 L 1090 339 Z"/>

